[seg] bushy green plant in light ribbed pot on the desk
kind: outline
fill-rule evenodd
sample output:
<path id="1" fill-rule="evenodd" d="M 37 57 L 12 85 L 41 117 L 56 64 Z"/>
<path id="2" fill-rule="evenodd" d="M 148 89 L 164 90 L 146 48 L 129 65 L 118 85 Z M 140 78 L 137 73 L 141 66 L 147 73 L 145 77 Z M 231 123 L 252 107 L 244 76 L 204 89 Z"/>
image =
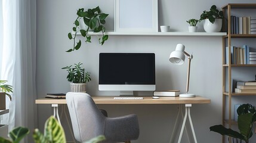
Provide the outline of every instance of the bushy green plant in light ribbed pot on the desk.
<path id="1" fill-rule="evenodd" d="M 81 67 L 82 63 L 74 64 L 73 66 L 66 66 L 61 69 L 66 69 L 67 81 L 70 83 L 71 92 L 86 92 L 86 83 L 91 81 L 90 73 L 85 72 Z"/>

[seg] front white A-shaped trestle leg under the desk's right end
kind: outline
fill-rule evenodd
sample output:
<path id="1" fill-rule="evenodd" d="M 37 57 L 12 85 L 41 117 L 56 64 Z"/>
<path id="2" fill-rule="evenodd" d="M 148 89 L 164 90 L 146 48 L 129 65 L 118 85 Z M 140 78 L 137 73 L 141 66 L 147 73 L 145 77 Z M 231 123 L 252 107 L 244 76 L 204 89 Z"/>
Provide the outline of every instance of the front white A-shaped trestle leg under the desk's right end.
<path id="1" fill-rule="evenodd" d="M 187 114 L 189 114 L 189 122 L 190 122 L 190 126 L 191 126 L 191 129 L 192 129 L 194 141 L 195 141 L 195 143 L 198 143 L 198 141 L 196 140 L 195 130 L 193 128 L 193 123 L 192 123 L 192 119 L 191 119 L 191 116 L 190 116 L 190 107 L 192 107 L 192 104 L 185 104 L 185 108 L 186 108 L 185 109 L 185 116 L 184 116 L 183 124 L 182 124 L 182 127 L 181 127 L 180 136 L 178 137 L 178 143 L 180 143 L 181 137 L 183 135 L 184 127 L 185 127 L 186 120 L 187 120 Z"/>

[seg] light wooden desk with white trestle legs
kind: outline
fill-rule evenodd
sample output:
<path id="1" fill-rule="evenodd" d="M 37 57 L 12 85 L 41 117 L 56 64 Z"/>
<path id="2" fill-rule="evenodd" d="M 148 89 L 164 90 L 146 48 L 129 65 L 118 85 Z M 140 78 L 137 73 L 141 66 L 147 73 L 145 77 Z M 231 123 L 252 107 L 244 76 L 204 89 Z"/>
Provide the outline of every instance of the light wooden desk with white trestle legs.
<path id="1" fill-rule="evenodd" d="M 178 138 L 178 143 L 181 142 L 181 137 L 183 135 L 184 126 L 186 124 L 187 116 L 189 116 L 189 122 L 193 133 L 193 138 L 195 143 L 198 141 L 196 140 L 195 130 L 193 128 L 192 119 L 190 116 L 190 107 L 192 104 L 209 104 L 211 100 L 204 97 L 192 97 L 192 98 L 183 98 L 183 97 L 160 97 L 158 99 L 153 99 L 152 97 L 143 97 L 143 100 L 114 100 L 113 97 L 107 96 L 92 96 L 95 104 L 179 104 L 178 115 L 175 120 L 174 129 L 172 130 L 172 135 L 170 142 L 173 142 L 174 139 L 174 132 L 177 130 L 177 122 L 178 117 L 180 114 L 183 118 L 183 124 L 181 126 L 180 136 Z M 51 104 L 54 107 L 54 116 L 57 116 L 57 119 L 60 121 L 60 117 L 58 116 L 58 104 L 67 104 L 66 99 L 53 99 L 53 98 L 41 98 L 35 101 L 36 104 Z M 185 104 L 185 115 L 181 111 L 181 104 Z"/>

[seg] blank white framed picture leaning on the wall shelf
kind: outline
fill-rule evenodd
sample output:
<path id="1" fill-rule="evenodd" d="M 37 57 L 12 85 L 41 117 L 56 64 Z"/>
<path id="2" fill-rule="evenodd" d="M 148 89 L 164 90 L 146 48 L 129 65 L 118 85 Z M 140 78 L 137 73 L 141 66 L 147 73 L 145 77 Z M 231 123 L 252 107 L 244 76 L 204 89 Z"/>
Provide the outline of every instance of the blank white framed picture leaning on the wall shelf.
<path id="1" fill-rule="evenodd" d="M 116 0 L 115 32 L 158 32 L 158 0 Z"/>

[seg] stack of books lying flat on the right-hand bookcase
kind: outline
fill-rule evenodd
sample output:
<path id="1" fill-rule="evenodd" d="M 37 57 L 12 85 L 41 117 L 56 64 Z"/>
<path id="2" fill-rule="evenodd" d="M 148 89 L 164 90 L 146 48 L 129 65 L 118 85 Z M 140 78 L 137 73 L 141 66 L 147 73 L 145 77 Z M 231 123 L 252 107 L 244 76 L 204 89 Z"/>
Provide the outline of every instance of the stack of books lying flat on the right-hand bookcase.
<path id="1" fill-rule="evenodd" d="M 236 82 L 236 93 L 255 93 L 256 94 L 256 81 L 238 81 Z"/>

